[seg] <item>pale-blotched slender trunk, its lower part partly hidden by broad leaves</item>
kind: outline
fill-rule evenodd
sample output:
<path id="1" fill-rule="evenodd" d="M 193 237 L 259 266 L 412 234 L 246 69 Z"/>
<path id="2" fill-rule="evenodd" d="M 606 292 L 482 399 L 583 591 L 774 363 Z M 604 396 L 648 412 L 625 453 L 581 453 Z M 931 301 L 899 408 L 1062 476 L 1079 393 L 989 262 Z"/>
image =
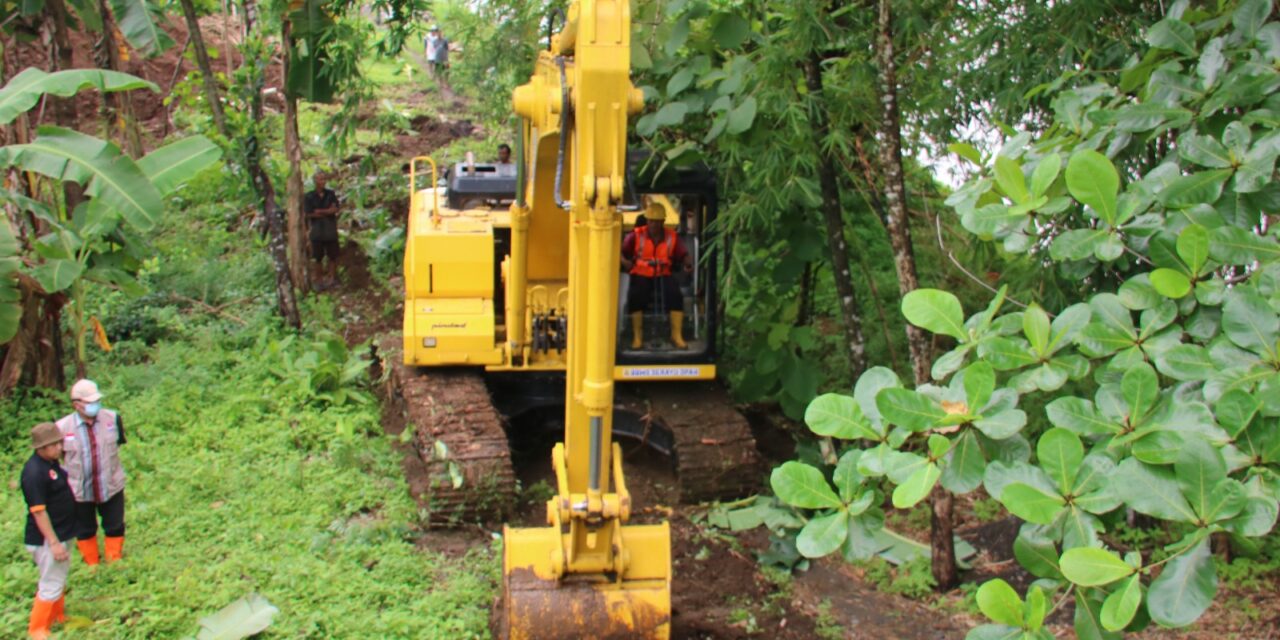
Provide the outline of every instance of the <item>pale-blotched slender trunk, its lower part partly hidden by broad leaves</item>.
<path id="1" fill-rule="evenodd" d="M 893 248 L 893 266 L 897 269 L 897 287 L 902 296 L 920 287 L 915 271 L 915 252 L 911 248 L 911 227 L 906 216 L 906 183 L 902 178 L 902 132 L 897 110 L 897 63 L 893 59 L 893 8 L 890 0 L 879 0 L 879 20 L 876 29 L 876 58 L 879 61 L 879 93 L 883 118 L 881 119 L 879 164 L 884 174 L 884 227 Z M 915 384 L 929 380 L 929 340 L 924 330 L 908 323 L 906 346 L 911 353 L 911 372 Z M 956 568 L 956 549 L 952 531 L 954 497 L 941 485 L 929 495 L 932 522 L 929 543 L 933 548 L 933 579 L 938 589 L 951 589 L 960 581 Z"/>

